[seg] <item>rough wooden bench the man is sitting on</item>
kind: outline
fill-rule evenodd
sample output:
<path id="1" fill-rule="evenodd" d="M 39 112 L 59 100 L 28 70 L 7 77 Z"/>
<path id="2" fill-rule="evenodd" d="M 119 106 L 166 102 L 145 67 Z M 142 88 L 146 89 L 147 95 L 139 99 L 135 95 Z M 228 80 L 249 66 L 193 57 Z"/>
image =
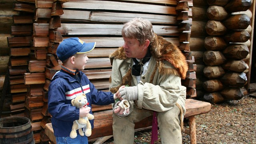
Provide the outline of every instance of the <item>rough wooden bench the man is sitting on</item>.
<path id="1" fill-rule="evenodd" d="M 195 116 L 199 114 L 207 113 L 211 110 L 211 104 L 209 102 L 203 102 L 194 99 L 186 99 L 186 114 L 184 118 L 188 118 L 189 130 L 185 129 L 184 133 L 190 135 L 190 144 L 196 144 L 196 119 Z M 89 141 L 97 140 L 104 136 L 112 137 L 112 110 L 104 110 L 100 112 L 94 112 L 94 129 L 92 135 L 88 137 Z M 152 127 L 152 116 L 145 118 L 144 120 L 135 123 L 135 130 L 143 130 Z M 56 144 L 56 140 L 53 134 L 52 124 L 48 123 L 45 127 L 45 134 L 50 140 Z M 110 138 L 108 137 L 108 138 Z"/>

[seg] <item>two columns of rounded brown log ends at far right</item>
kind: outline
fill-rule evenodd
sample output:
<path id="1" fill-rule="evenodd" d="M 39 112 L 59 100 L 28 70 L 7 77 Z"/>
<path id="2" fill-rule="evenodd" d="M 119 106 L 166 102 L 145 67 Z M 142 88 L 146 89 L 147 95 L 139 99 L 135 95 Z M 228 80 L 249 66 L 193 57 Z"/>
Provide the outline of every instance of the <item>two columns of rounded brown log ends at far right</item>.
<path id="1" fill-rule="evenodd" d="M 239 100 L 247 90 L 249 66 L 250 0 L 207 0 L 209 18 L 204 39 L 203 73 L 208 80 L 202 86 L 204 100 L 212 103 Z M 248 10 L 248 11 L 247 11 Z M 245 62 L 246 61 L 246 62 Z"/>

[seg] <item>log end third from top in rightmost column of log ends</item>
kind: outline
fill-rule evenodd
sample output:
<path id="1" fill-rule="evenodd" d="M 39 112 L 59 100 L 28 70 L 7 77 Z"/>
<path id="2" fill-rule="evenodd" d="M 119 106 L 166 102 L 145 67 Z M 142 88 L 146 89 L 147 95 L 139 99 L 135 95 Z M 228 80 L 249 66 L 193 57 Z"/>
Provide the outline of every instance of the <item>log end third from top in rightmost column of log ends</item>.
<path id="1" fill-rule="evenodd" d="M 231 31 L 225 36 L 226 42 L 246 42 L 250 34 L 246 30 Z"/>

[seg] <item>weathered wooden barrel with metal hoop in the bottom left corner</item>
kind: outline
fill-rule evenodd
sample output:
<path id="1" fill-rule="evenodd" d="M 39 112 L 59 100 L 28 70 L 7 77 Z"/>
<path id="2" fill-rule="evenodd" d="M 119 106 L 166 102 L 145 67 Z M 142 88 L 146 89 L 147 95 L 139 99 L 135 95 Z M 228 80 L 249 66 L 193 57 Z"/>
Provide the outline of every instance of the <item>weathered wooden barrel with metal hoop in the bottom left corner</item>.
<path id="1" fill-rule="evenodd" d="M 0 118 L 0 144 L 34 144 L 30 119 L 22 116 Z"/>

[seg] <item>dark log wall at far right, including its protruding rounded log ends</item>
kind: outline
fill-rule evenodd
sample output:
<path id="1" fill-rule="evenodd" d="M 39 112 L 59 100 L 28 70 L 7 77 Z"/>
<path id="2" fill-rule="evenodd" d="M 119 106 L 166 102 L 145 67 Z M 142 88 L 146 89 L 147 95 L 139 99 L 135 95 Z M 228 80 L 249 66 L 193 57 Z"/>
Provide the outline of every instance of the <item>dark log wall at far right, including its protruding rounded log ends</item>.
<path id="1" fill-rule="evenodd" d="M 248 94 L 255 2 L 197 0 L 193 4 L 190 50 L 197 65 L 197 96 L 212 103 L 238 100 Z"/>

